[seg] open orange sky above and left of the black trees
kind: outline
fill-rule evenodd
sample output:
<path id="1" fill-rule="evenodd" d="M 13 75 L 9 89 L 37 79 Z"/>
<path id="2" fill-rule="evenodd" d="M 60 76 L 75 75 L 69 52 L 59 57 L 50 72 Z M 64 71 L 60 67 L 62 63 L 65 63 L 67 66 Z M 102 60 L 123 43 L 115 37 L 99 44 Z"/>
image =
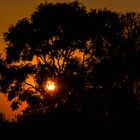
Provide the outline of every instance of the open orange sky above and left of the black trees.
<path id="1" fill-rule="evenodd" d="M 35 7 L 45 0 L 0 0 L 0 53 L 4 50 L 2 33 L 7 31 L 11 24 L 17 20 L 29 17 Z M 48 0 L 48 2 L 66 2 L 70 0 Z M 140 12 L 140 0 L 80 0 L 88 9 L 107 7 L 119 12 L 135 11 Z M 4 112 L 7 118 L 12 118 L 13 113 L 7 99 L 0 94 L 0 111 Z M 15 114 L 15 113 L 14 113 Z"/>

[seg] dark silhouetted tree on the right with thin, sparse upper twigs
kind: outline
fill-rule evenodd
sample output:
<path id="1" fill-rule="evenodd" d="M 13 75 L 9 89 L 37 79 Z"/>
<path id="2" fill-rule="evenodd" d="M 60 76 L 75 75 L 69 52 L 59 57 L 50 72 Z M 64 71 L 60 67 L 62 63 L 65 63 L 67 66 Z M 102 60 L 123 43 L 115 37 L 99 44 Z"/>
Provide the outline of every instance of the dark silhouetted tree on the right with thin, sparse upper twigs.
<path id="1" fill-rule="evenodd" d="M 91 14 L 95 13 L 93 11 Z M 110 117 L 109 113 L 114 112 L 114 117 L 120 115 L 120 118 L 126 119 L 135 116 L 133 111 L 137 108 L 134 84 L 139 79 L 137 72 L 140 66 L 139 14 L 113 14 L 106 10 L 98 11 L 98 14 L 97 17 L 92 16 L 97 20 L 92 20 L 98 23 L 96 26 L 102 27 L 93 38 L 95 47 L 97 46 L 95 56 L 100 58 L 93 74 L 93 83 L 103 94 L 99 108 L 101 105 L 104 115 Z"/>

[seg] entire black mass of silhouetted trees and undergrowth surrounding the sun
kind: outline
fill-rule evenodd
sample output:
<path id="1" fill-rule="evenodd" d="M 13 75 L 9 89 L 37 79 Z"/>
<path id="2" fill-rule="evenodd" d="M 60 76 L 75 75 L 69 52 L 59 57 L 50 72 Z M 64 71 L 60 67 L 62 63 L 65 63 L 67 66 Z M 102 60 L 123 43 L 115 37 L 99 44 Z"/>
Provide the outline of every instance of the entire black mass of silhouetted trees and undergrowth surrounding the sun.
<path id="1" fill-rule="evenodd" d="M 134 139 L 140 122 L 139 13 L 87 11 L 77 1 L 43 3 L 11 25 L 4 39 L 0 91 L 13 110 L 23 102 L 27 107 L 15 122 L 2 114 L 3 130 L 73 139 L 120 138 L 120 132 Z M 46 89 L 47 80 L 55 91 Z"/>

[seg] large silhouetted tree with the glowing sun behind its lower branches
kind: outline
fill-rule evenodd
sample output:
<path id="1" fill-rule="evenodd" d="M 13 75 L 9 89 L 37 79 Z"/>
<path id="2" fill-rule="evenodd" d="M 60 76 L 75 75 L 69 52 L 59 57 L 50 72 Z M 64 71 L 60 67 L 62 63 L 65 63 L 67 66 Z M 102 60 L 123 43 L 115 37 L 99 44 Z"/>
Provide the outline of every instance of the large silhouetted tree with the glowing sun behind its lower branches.
<path id="1" fill-rule="evenodd" d="M 76 52 L 86 47 L 86 19 L 86 9 L 78 2 L 44 3 L 4 34 L 7 67 L 2 90 L 13 109 L 26 101 L 29 110 L 46 112 L 83 87 L 87 60 L 81 63 Z M 47 80 L 59 88 L 54 97 L 45 90 Z"/>

